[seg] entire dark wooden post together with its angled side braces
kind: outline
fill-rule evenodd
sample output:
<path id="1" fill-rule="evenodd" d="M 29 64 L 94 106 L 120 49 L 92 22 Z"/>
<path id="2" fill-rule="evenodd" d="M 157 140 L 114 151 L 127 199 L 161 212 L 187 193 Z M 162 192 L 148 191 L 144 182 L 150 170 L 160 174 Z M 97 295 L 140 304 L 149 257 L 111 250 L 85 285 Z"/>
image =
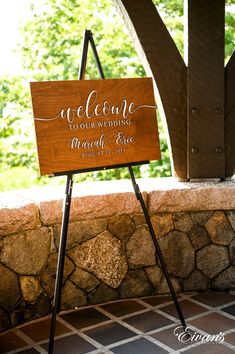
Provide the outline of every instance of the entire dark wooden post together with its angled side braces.
<path id="1" fill-rule="evenodd" d="M 235 55 L 224 69 L 224 0 L 185 0 L 188 67 L 151 0 L 114 0 L 165 116 L 180 179 L 235 173 Z"/>

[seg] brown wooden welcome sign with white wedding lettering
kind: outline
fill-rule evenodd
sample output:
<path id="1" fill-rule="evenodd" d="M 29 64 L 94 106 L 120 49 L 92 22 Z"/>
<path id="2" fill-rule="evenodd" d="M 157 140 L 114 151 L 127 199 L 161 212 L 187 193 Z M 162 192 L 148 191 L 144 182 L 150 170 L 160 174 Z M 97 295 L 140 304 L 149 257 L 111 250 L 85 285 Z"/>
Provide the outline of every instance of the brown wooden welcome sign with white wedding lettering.
<path id="1" fill-rule="evenodd" d="M 152 79 L 30 87 L 41 175 L 160 159 Z"/>

